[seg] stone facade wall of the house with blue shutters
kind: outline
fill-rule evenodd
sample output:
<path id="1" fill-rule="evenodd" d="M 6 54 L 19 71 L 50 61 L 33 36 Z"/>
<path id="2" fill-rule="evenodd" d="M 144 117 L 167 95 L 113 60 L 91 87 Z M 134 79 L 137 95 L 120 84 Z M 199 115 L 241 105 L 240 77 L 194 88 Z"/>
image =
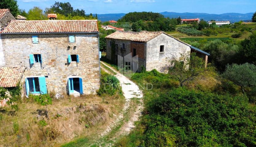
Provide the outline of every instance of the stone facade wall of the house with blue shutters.
<path id="1" fill-rule="evenodd" d="M 37 35 L 39 43 L 32 43 Z M 68 35 L 75 35 L 75 43 L 68 42 Z M 4 66 L 25 66 L 25 77 L 48 76 L 47 90 L 68 92 L 68 77 L 83 79 L 83 93 L 99 89 L 99 51 L 97 34 L 2 34 Z M 30 64 L 29 54 L 42 54 L 42 63 Z M 68 64 L 68 55 L 79 55 L 79 63 Z"/>

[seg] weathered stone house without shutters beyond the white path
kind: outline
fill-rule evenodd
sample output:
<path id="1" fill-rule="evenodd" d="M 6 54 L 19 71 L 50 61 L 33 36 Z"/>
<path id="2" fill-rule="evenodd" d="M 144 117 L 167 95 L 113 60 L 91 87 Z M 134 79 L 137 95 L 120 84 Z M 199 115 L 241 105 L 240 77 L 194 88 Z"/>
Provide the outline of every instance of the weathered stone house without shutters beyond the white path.
<path id="1" fill-rule="evenodd" d="M 165 72 L 165 67 L 169 65 L 171 58 L 180 58 L 181 54 L 191 52 L 196 52 L 196 55 L 203 58 L 207 64 L 208 55 L 210 55 L 162 31 L 114 32 L 105 38 L 107 59 L 115 63 L 123 60 L 123 66 L 127 68 L 130 65 L 134 66 L 133 62 L 125 61 L 127 55 L 131 55 L 132 59 L 138 57 L 138 70 L 133 70 L 134 72 L 140 71 L 142 66 L 147 71 L 156 69 Z M 133 67 L 128 67 L 128 70 L 130 69 Z"/>

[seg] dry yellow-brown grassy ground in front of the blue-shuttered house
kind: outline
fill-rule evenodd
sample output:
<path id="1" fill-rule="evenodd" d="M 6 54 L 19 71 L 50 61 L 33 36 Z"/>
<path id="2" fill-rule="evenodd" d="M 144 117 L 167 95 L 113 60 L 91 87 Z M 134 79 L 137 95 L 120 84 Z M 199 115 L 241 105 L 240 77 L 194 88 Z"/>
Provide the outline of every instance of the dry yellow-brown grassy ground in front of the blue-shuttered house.
<path id="1" fill-rule="evenodd" d="M 22 102 L 13 112 L 0 108 L 0 146 L 59 146 L 78 136 L 99 135 L 116 119 L 124 104 L 121 96 L 87 95 L 53 100 L 47 107 Z"/>

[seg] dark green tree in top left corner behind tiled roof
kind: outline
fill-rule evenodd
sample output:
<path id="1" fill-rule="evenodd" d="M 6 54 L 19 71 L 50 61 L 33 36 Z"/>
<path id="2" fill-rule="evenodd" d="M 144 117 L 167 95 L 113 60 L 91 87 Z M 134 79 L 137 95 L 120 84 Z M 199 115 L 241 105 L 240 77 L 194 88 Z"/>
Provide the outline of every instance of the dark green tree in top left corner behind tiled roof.
<path id="1" fill-rule="evenodd" d="M 16 0 L 1 0 L 0 9 L 10 9 L 14 17 L 17 17 L 19 14 L 19 7 Z"/>

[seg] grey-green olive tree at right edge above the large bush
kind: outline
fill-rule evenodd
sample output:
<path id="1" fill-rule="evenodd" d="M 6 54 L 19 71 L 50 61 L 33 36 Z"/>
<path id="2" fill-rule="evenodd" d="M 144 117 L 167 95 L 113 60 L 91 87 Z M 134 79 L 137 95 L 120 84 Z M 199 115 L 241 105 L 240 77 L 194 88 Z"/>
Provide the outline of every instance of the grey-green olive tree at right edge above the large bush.
<path id="1" fill-rule="evenodd" d="M 239 85 L 245 93 L 246 87 L 256 86 L 256 66 L 249 63 L 227 65 L 223 77 Z"/>

